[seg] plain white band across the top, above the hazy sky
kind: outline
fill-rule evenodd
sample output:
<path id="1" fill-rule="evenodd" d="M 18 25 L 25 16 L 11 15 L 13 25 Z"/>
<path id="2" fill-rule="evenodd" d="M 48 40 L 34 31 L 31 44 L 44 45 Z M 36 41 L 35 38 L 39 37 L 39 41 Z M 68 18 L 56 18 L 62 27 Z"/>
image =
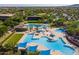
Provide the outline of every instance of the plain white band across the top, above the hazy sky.
<path id="1" fill-rule="evenodd" d="M 0 0 L 0 4 L 79 4 L 79 0 Z"/>

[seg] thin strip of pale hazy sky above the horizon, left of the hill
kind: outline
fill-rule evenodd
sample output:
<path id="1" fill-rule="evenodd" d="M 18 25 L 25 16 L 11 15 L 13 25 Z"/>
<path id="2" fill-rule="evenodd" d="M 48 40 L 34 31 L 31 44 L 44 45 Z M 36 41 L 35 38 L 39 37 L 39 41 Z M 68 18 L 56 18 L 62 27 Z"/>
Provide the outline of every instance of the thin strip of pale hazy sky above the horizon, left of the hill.
<path id="1" fill-rule="evenodd" d="M 12 6 L 67 6 L 69 4 L 0 4 L 2 7 L 12 7 Z"/>

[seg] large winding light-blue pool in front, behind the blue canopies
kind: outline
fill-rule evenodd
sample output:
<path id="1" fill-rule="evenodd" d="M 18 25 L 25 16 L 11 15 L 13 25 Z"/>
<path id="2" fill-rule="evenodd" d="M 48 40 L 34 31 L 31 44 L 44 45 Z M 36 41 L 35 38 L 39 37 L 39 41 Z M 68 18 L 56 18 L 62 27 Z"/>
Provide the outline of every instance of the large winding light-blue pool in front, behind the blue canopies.
<path id="1" fill-rule="evenodd" d="M 48 42 L 47 40 L 48 40 L 47 37 L 42 37 L 39 40 L 33 40 L 33 35 L 29 34 L 26 35 L 24 42 L 28 42 L 28 43 L 34 42 L 34 43 L 42 44 L 43 46 L 49 48 L 50 50 L 58 50 L 65 55 L 71 55 L 74 53 L 74 49 L 69 46 L 65 46 L 65 43 L 60 38 L 57 41 L 53 41 L 53 42 Z"/>

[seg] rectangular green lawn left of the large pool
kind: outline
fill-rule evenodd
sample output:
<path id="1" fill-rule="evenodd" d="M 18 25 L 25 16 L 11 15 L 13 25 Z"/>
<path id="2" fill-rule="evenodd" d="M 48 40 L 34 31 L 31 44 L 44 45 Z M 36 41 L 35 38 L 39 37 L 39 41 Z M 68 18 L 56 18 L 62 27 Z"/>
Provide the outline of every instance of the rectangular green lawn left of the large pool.
<path id="1" fill-rule="evenodd" d="M 23 34 L 13 34 L 5 43 L 5 47 L 14 47 L 17 42 L 20 40 L 20 38 L 23 36 Z"/>

